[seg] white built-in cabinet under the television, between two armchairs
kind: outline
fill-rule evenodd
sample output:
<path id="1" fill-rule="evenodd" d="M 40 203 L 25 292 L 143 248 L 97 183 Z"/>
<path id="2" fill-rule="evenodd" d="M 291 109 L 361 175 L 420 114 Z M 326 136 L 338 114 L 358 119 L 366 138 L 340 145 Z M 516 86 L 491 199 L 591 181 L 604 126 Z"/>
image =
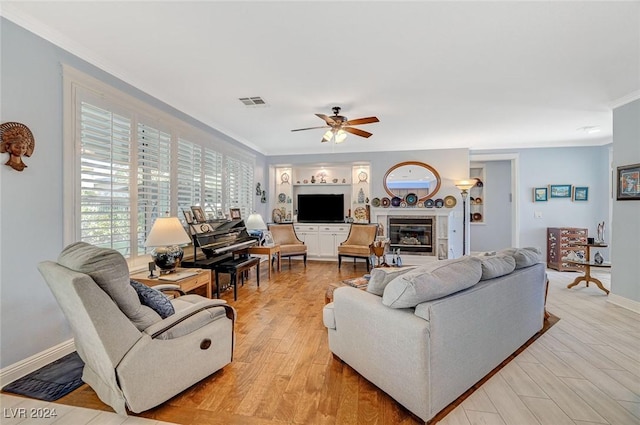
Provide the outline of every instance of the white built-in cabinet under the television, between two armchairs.
<path id="1" fill-rule="evenodd" d="M 296 223 L 296 235 L 307 245 L 307 256 L 317 259 L 337 259 L 338 245 L 349 236 L 349 224 Z"/>

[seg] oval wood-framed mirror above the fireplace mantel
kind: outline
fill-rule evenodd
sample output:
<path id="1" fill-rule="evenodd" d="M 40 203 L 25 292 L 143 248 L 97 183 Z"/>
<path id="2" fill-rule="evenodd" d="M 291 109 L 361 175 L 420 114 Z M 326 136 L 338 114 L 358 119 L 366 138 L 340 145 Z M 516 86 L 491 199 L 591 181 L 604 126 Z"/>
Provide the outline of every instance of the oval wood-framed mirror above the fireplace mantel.
<path id="1" fill-rule="evenodd" d="M 389 168 L 384 175 L 384 190 L 390 196 L 404 197 L 413 193 L 420 202 L 434 196 L 440 189 L 440 175 L 423 162 L 406 161 Z"/>

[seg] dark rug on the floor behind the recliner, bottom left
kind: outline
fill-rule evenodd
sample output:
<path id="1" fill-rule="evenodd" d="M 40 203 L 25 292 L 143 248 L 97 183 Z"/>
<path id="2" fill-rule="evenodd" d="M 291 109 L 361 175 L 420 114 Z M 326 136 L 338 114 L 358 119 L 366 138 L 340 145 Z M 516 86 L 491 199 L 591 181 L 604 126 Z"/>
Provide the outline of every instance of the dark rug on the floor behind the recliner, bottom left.
<path id="1" fill-rule="evenodd" d="M 6 385 L 2 391 L 44 401 L 55 401 L 80 387 L 84 362 L 77 352 L 67 354 Z"/>

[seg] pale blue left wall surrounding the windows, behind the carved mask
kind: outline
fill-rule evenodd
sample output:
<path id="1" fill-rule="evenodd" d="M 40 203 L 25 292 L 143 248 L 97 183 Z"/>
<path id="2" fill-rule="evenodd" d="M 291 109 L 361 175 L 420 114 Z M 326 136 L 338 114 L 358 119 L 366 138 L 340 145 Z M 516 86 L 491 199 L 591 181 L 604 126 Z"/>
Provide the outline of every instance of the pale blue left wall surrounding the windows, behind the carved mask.
<path id="1" fill-rule="evenodd" d="M 28 168 L 23 172 L 0 165 L 0 368 L 4 368 L 72 337 L 36 268 L 40 261 L 57 258 L 63 248 L 62 63 L 208 132 L 221 145 L 240 147 L 254 154 L 256 181 L 265 181 L 267 172 L 265 158 L 260 153 L 11 21 L 0 18 L 0 31 L 0 120 L 27 125 L 36 139 L 35 151 L 30 158 L 25 158 Z"/>

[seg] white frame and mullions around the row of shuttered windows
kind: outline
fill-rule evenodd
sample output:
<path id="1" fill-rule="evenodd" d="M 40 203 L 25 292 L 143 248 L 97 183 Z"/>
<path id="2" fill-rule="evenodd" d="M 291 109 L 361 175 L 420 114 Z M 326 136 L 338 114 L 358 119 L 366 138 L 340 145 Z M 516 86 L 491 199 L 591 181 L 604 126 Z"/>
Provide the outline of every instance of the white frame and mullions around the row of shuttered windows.
<path id="1" fill-rule="evenodd" d="M 171 216 L 178 217 L 184 224 L 182 208 L 178 205 L 178 140 L 182 139 L 200 147 L 201 150 L 201 172 L 200 172 L 200 199 L 206 201 L 207 190 L 211 192 L 211 187 L 207 189 L 205 180 L 205 152 L 218 158 L 217 163 L 221 164 L 219 175 L 213 178 L 213 182 L 221 185 L 214 189 L 221 199 L 218 204 L 228 214 L 229 200 L 227 194 L 229 188 L 226 179 L 227 158 L 234 158 L 246 164 L 250 169 L 255 170 L 255 155 L 249 151 L 244 151 L 224 140 L 219 140 L 211 132 L 189 124 L 184 119 L 164 112 L 155 106 L 124 93 L 111 85 L 91 77 L 77 69 L 62 64 L 63 75 L 63 242 L 68 245 L 81 240 L 81 134 L 80 134 L 80 104 L 86 101 L 91 105 L 106 109 L 111 113 L 123 116 L 132 116 L 131 120 L 131 175 L 129 181 L 130 190 L 130 244 L 132 253 L 127 257 L 129 267 L 142 269 L 151 260 L 148 254 L 139 254 L 134 243 L 137 236 L 138 221 L 138 126 L 144 124 L 154 129 L 166 132 L 170 135 L 170 176 L 169 176 L 169 205 Z M 134 149 L 135 148 L 135 149 Z M 255 182 L 255 173 L 251 175 L 246 188 L 239 190 L 251 190 Z M 249 192 L 250 193 L 250 192 Z M 240 208 L 246 211 L 253 210 L 253 197 L 249 198 L 249 205 L 241 205 Z M 233 205 L 237 206 L 237 205 Z M 243 218 L 244 215 L 243 215 Z M 187 252 L 185 250 L 185 252 Z"/>

